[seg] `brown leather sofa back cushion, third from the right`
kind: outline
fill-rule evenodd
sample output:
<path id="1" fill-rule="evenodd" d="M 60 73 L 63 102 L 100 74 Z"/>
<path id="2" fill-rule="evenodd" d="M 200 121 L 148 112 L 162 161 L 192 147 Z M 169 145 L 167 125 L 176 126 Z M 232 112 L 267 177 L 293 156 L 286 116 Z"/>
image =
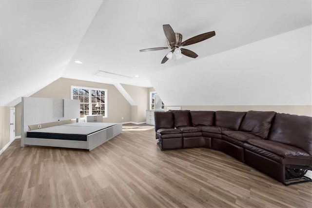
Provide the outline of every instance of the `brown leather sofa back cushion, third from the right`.
<path id="1" fill-rule="evenodd" d="M 215 111 L 215 125 L 238 130 L 246 112 Z"/>

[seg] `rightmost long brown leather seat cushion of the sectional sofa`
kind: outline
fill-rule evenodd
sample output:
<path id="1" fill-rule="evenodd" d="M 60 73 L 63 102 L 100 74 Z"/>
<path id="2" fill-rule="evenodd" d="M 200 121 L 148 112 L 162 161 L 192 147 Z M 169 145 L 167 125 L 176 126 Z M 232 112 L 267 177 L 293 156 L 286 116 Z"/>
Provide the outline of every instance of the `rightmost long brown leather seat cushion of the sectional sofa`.
<path id="1" fill-rule="evenodd" d="M 248 140 L 247 143 L 260 147 L 261 149 L 272 152 L 283 158 L 298 158 L 298 159 L 311 159 L 309 155 L 303 149 L 295 146 L 286 145 L 279 142 L 268 141 L 268 140 Z"/>

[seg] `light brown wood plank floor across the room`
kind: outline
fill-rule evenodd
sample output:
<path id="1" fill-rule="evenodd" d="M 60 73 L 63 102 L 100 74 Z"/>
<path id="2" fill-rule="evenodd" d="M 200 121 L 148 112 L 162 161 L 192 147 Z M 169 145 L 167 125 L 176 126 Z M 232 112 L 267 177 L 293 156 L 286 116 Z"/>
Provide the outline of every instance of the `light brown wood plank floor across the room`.
<path id="1" fill-rule="evenodd" d="M 286 187 L 222 152 L 160 151 L 153 126 L 92 151 L 27 146 L 0 155 L 0 207 L 312 207 L 312 183 Z"/>

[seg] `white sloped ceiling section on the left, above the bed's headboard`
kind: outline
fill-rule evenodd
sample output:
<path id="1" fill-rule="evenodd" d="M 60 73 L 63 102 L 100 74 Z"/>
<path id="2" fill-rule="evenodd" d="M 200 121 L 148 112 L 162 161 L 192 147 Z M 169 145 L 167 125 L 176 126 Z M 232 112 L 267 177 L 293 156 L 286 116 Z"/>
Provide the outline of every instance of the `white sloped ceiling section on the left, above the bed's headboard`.
<path id="1" fill-rule="evenodd" d="M 0 1 L 0 105 L 58 79 L 101 1 Z"/>

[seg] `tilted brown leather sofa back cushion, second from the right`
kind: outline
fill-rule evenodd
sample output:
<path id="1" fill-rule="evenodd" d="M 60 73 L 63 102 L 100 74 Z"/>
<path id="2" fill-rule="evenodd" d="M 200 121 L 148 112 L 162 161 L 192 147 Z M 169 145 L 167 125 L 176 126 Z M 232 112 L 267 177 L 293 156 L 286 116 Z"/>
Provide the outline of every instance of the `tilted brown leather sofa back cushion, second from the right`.
<path id="1" fill-rule="evenodd" d="M 274 111 L 248 111 L 239 126 L 239 130 L 267 139 L 275 114 Z"/>

